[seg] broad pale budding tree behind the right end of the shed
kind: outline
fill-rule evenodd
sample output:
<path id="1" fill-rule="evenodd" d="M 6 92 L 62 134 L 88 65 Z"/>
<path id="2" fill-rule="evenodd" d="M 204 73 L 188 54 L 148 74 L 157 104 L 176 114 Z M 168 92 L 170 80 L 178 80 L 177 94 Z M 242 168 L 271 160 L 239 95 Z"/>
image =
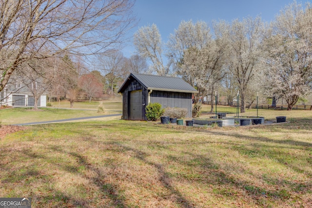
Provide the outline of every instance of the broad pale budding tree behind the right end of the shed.
<path id="1" fill-rule="evenodd" d="M 215 24 L 215 31 L 221 27 Z M 222 36 L 213 38 L 207 23 L 182 21 L 168 43 L 170 54 L 176 60 L 176 74 L 198 90 L 194 96 L 193 116 L 198 114 L 199 99 L 210 94 L 213 97 L 216 84 L 224 77 L 223 56 L 226 42 Z M 214 105 L 211 106 L 213 111 Z"/>

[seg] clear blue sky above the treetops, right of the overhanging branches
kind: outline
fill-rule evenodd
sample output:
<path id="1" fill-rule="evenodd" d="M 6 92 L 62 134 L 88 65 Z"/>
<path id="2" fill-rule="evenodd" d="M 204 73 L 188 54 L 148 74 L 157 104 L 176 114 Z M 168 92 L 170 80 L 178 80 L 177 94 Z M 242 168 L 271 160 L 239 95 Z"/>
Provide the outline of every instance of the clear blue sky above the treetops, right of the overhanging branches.
<path id="1" fill-rule="evenodd" d="M 138 24 L 129 36 L 132 37 L 139 27 L 155 23 L 161 38 L 167 42 L 169 34 L 174 33 L 181 21 L 213 20 L 232 21 L 247 16 L 260 15 L 262 20 L 273 21 L 279 11 L 293 0 L 137 0 L 134 12 Z M 299 1 L 303 4 L 306 1 Z M 124 56 L 135 53 L 132 42 L 123 50 Z"/>

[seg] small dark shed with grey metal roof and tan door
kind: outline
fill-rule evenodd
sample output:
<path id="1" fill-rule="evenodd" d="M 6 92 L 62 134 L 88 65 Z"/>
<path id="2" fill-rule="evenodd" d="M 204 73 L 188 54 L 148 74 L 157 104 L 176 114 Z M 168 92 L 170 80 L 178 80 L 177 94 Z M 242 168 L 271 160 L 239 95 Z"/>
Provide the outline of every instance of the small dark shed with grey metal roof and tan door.
<path id="1" fill-rule="evenodd" d="M 181 78 L 131 73 L 118 93 L 122 93 L 122 119 L 147 120 L 145 106 L 149 103 L 187 108 L 191 118 L 192 94 L 197 91 Z"/>

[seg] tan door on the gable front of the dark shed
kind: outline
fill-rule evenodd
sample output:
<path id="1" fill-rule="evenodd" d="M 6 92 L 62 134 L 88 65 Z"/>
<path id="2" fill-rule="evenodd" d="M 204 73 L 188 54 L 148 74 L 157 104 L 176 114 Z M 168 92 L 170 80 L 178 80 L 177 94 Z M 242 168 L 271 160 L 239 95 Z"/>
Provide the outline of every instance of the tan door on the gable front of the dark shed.
<path id="1" fill-rule="evenodd" d="M 142 90 L 130 92 L 130 120 L 142 120 Z"/>

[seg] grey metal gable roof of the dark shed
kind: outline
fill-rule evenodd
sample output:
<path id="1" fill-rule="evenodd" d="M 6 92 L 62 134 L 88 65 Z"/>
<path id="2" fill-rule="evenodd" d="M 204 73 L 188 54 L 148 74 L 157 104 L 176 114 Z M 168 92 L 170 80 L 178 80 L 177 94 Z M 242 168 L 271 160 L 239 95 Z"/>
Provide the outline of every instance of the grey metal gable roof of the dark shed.
<path id="1" fill-rule="evenodd" d="M 119 92 L 123 92 L 125 87 L 131 82 L 132 78 L 136 79 L 148 90 L 171 91 L 171 92 L 188 92 L 198 93 L 194 87 L 177 77 L 162 77 L 148 74 L 131 73 L 128 79 L 122 84 Z"/>

